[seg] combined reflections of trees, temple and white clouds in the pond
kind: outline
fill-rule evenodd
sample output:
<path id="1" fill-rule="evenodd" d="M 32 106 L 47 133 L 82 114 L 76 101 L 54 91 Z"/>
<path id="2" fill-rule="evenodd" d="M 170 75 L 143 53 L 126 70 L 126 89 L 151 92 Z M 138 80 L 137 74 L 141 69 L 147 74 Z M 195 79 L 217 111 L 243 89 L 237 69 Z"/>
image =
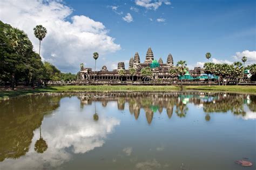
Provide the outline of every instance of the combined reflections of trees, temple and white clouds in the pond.
<path id="1" fill-rule="evenodd" d="M 204 121 L 228 112 L 244 120 L 256 119 L 256 97 L 247 94 L 45 93 L 14 98 L 0 101 L 0 169 L 56 168 L 75 154 L 102 147 L 121 123 L 114 115 L 117 112 L 129 111 L 134 120 L 146 118 L 152 126 L 158 114 L 167 114 L 168 120 L 173 114 L 187 119 L 191 106 L 204 113 Z M 156 150 L 164 151 L 164 147 Z M 124 147 L 122 152 L 130 156 L 133 147 Z M 134 167 L 165 166 L 152 159 L 136 162 Z"/>

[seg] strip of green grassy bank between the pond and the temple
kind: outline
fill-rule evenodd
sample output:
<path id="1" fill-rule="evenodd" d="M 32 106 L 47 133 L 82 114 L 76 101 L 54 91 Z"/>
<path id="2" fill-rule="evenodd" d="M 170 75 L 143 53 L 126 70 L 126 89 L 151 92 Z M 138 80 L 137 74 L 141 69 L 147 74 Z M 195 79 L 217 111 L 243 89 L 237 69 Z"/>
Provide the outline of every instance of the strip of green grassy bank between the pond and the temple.
<path id="1" fill-rule="evenodd" d="M 86 92 L 86 91 L 179 91 L 179 86 L 51 86 L 43 89 L 0 90 L 0 99 L 43 92 Z M 184 86 L 184 90 L 226 91 L 256 94 L 256 86 Z"/>

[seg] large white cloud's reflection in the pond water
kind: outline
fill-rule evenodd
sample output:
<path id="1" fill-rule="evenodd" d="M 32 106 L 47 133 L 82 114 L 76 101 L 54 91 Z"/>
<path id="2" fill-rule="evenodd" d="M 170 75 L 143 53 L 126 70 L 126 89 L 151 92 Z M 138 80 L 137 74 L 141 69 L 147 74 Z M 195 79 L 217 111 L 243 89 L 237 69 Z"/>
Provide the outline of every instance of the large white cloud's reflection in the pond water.
<path id="1" fill-rule="evenodd" d="M 99 109 L 99 120 L 95 121 L 92 117 L 95 113 L 94 105 L 85 105 L 81 110 L 79 104 L 77 97 L 72 97 L 72 100 L 62 98 L 62 104 L 52 113 L 54 116 L 44 117 L 41 129 L 48 149 L 43 154 L 38 154 L 33 147 L 39 139 L 40 132 L 37 128 L 33 132 L 29 151 L 19 159 L 6 159 L 1 162 L 0 169 L 28 169 L 28 165 L 31 169 L 59 169 L 74 154 L 102 147 L 107 135 L 120 125 L 120 120 L 107 117 L 107 111 Z"/>

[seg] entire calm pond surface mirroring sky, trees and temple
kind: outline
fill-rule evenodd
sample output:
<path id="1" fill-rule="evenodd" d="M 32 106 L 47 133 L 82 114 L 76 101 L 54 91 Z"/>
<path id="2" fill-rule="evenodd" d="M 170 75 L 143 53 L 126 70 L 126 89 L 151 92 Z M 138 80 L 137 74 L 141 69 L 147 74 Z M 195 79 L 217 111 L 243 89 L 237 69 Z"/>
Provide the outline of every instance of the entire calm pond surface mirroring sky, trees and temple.
<path id="1" fill-rule="evenodd" d="M 0 169 L 255 169 L 255 126 L 247 94 L 13 98 L 0 101 Z"/>

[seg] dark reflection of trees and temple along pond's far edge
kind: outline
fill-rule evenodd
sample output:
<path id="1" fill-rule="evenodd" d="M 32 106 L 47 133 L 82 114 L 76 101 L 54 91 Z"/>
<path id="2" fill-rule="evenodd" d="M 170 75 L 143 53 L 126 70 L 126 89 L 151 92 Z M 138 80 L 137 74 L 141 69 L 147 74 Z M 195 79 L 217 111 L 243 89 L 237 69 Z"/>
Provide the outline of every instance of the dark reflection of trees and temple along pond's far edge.
<path id="1" fill-rule="evenodd" d="M 171 118 L 173 111 L 179 118 L 189 114 L 188 104 L 200 106 L 205 112 L 205 121 L 210 121 L 215 113 L 231 112 L 241 117 L 246 116 L 246 107 L 251 112 L 256 111 L 256 97 L 247 94 L 233 93 L 118 93 L 105 92 L 97 94 L 99 97 L 93 98 L 94 93 L 58 93 L 41 94 L 38 96 L 27 96 L 0 101 L 0 161 L 6 158 L 17 159 L 29 151 L 33 138 L 33 131 L 40 128 L 40 138 L 36 141 L 35 151 L 43 153 L 48 148 L 46 141 L 41 137 L 41 125 L 44 115 L 50 115 L 52 111 L 59 107 L 59 101 L 65 96 L 77 96 L 80 99 L 80 108 L 84 105 L 95 104 L 93 120 L 100 124 L 96 111 L 96 102 L 102 103 L 106 107 L 109 101 L 117 102 L 117 109 L 124 110 L 125 103 L 129 106 L 129 111 L 134 118 L 139 119 L 144 110 L 147 123 L 152 124 L 153 116 L 156 112 L 166 111 L 167 117 Z M 102 96 L 102 97 L 100 97 Z M 203 107 L 203 108 L 201 108 Z M 90 115 L 90 118 L 92 115 Z M 140 116 L 141 117 L 141 116 Z M 101 118 L 102 119 L 102 118 Z M 92 120 L 92 119 L 91 119 Z"/>

